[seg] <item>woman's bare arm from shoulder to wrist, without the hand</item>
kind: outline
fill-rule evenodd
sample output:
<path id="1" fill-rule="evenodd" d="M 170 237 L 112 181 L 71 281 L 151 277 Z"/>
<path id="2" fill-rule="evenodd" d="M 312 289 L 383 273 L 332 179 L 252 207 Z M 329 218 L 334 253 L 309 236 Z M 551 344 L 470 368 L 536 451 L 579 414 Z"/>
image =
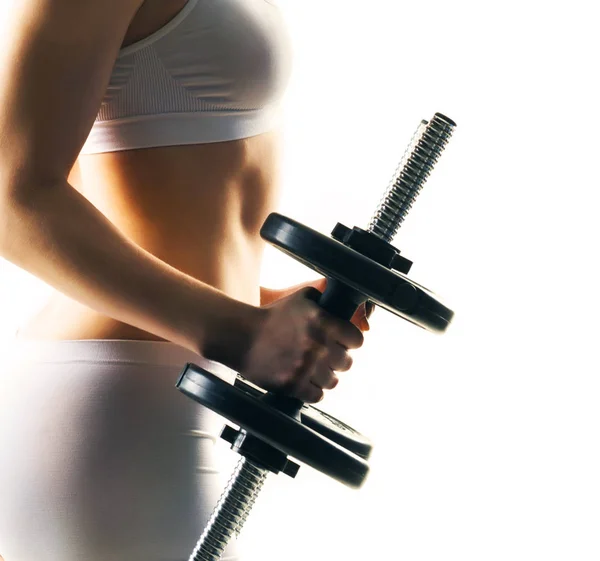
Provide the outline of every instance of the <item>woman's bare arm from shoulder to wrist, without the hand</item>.
<path id="1" fill-rule="evenodd" d="M 68 183 L 141 4 L 13 3 L 0 48 L 0 256 L 102 314 L 239 370 L 260 309 L 137 246 Z"/>

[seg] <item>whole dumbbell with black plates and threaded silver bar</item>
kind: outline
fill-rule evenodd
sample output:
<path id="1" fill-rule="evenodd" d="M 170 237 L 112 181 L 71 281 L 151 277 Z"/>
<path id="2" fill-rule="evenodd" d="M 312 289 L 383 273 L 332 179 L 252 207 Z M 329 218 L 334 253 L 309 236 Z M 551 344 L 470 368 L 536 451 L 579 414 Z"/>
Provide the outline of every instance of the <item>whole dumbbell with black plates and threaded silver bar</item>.
<path id="1" fill-rule="evenodd" d="M 454 312 L 406 276 L 412 262 L 391 241 L 455 127 L 441 113 L 421 121 L 367 230 L 338 223 L 329 237 L 281 214 L 268 216 L 261 237 L 327 278 L 318 301 L 324 310 L 350 320 L 369 301 L 428 331 L 447 329 Z M 371 441 L 316 407 L 265 392 L 241 375 L 230 384 L 192 363 L 176 387 L 239 427 L 225 425 L 221 438 L 242 456 L 190 561 L 221 558 L 266 476 L 296 476 L 300 466 L 290 457 L 351 488 L 367 477 Z"/>

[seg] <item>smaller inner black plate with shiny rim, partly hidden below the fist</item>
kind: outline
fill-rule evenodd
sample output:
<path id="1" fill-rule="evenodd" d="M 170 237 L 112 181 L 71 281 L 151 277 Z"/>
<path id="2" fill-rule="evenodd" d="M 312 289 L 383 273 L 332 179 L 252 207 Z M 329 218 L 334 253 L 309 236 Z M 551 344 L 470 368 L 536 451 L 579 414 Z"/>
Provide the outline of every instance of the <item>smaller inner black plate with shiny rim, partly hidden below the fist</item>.
<path id="1" fill-rule="evenodd" d="M 263 390 L 239 377 L 235 380 L 235 386 L 258 399 L 265 395 Z M 373 450 L 373 443 L 366 436 L 360 434 L 346 423 L 312 405 L 306 404 L 300 410 L 300 418 L 303 425 L 317 431 L 325 438 L 333 440 L 333 442 L 339 444 L 346 450 L 353 452 L 357 456 L 360 456 L 365 460 L 369 459 L 371 451 Z"/>

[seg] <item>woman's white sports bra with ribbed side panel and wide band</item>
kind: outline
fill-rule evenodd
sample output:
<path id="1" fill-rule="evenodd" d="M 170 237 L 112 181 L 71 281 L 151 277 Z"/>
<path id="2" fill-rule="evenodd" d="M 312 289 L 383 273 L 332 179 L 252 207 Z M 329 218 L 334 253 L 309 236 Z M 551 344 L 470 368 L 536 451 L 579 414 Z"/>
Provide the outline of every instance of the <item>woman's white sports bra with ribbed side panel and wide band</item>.
<path id="1" fill-rule="evenodd" d="M 121 49 L 81 154 L 222 142 L 279 124 L 291 45 L 272 0 L 188 0 Z"/>

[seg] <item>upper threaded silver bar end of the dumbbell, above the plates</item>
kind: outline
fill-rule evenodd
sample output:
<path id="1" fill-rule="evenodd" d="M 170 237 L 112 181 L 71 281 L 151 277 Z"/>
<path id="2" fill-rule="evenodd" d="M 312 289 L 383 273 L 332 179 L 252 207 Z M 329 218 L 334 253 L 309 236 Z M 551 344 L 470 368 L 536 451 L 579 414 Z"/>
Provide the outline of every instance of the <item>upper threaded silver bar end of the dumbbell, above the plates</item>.
<path id="1" fill-rule="evenodd" d="M 370 233 L 388 243 L 394 239 L 455 127 L 456 123 L 441 113 L 429 122 L 421 121 L 369 223 Z"/>

